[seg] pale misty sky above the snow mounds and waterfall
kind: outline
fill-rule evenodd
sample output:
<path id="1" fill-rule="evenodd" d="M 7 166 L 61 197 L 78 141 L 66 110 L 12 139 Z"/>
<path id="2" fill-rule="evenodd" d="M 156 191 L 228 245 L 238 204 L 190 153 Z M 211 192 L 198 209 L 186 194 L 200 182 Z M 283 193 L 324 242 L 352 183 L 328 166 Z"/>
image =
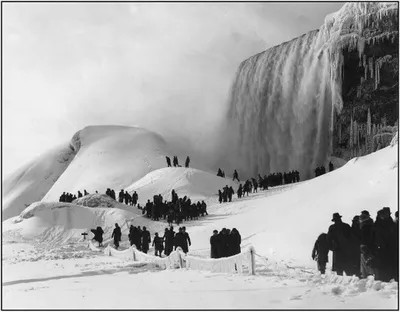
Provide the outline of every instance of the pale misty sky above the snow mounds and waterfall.
<path id="1" fill-rule="evenodd" d="M 240 63 L 343 3 L 3 3 L 3 178 L 88 125 L 215 149 Z"/>

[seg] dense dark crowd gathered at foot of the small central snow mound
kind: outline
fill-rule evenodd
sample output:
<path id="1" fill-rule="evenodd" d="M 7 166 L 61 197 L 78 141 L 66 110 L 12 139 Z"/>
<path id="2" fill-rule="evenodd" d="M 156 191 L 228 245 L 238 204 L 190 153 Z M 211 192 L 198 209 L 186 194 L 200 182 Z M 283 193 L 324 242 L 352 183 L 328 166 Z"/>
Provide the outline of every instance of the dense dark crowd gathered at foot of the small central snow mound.
<path id="1" fill-rule="evenodd" d="M 161 194 L 154 195 L 153 201 L 147 200 L 144 207 L 138 205 L 142 214 L 154 221 L 167 220 L 168 225 L 177 225 L 183 221 L 198 220 L 199 216 L 208 215 L 207 204 L 202 201 L 192 202 L 190 198 L 179 197 L 175 190 L 171 191 L 171 200 L 164 200 Z"/>

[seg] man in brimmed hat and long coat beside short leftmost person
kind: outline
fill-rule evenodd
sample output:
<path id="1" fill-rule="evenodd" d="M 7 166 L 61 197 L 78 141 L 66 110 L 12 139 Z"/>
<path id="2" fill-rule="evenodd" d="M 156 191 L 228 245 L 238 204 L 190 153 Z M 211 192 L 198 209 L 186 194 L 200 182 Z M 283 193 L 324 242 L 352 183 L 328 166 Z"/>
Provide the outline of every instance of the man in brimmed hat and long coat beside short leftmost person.
<path id="1" fill-rule="evenodd" d="M 327 237 L 329 249 L 333 253 L 332 271 L 338 275 L 343 275 L 343 272 L 346 272 L 347 275 L 356 274 L 357 272 L 354 272 L 356 269 L 355 260 L 358 262 L 359 255 L 357 251 L 357 259 L 354 259 L 354 261 L 352 261 L 354 257 L 352 255 L 349 256 L 351 251 L 354 250 L 350 225 L 342 222 L 342 216 L 337 212 L 333 214 L 332 222 L 334 224 L 329 227 Z"/>

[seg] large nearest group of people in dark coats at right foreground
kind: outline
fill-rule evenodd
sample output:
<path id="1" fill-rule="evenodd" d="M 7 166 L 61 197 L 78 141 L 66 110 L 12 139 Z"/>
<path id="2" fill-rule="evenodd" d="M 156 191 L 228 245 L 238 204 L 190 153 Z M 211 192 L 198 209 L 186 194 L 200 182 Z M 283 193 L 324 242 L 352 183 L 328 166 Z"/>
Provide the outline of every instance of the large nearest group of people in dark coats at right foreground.
<path id="1" fill-rule="evenodd" d="M 334 213 L 328 233 L 318 236 L 312 250 L 318 270 L 324 274 L 328 252 L 333 252 L 332 271 L 338 275 L 356 275 L 366 278 L 374 275 L 375 280 L 388 282 L 398 279 L 399 263 L 399 215 L 391 217 L 389 207 L 378 211 L 375 222 L 369 212 L 363 210 L 354 216 L 352 225 L 342 221 Z"/>

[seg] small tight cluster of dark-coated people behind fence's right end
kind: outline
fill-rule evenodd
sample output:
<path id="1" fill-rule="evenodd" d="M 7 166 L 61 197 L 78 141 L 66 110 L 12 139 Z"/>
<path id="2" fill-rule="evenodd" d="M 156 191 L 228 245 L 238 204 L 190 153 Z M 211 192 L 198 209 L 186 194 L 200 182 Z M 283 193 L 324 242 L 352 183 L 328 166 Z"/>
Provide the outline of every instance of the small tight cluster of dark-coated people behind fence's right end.
<path id="1" fill-rule="evenodd" d="M 211 258 L 218 259 L 240 254 L 241 243 L 242 238 L 235 228 L 232 231 L 223 228 L 219 233 L 214 230 L 210 237 Z"/>

